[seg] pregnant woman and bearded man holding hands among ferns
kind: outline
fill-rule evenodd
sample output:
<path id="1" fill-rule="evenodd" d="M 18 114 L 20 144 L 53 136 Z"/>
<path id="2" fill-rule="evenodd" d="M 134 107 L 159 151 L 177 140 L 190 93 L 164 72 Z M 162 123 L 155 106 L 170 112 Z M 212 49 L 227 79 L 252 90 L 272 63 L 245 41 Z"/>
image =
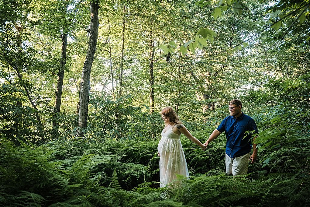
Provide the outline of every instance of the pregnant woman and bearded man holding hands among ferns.
<path id="1" fill-rule="evenodd" d="M 256 144 L 253 143 L 253 154 L 251 155 L 251 133 L 258 134 L 255 121 L 242 111 L 242 103 L 238 99 L 228 102 L 230 116 L 227 116 L 216 128 L 209 139 L 202 144 L 193 137 L 187 128 L 182 124 L 179 117 L 171 107 L 165 107 L 161 111 L 162 119 L 165 121 L 165 128 L 162 130 L 162 139 L 158 143 L 160 187 L 168 183 L 175 183 L 177 174 L 189 179 L 187 163 L 180 141 L 181 133 L 188 139 L 201 147 L 203 151 L 210 142 L 225 131 L 226 135 L 226 173 L 232 175 L 244 175 L 248 172 L 249 160 L 254 163 L 257 157 Z M 253 138 L 254 140 L 255 138 Z M 175 181 L 175 182 L 173 182 Z"/>

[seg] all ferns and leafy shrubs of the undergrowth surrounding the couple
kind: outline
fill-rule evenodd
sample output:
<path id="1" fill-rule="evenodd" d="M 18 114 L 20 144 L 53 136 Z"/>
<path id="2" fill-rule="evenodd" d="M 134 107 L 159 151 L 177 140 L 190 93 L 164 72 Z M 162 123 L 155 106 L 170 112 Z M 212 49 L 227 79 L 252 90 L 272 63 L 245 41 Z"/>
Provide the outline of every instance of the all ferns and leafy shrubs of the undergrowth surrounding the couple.
<path id="1" fill-rule="evenodd" d="M 246 176 L 224 173 L 224 133 L 205 152 L 182 135 L 190 180 L 176 188 L 159 187 L 159 114 L 133 107 L 130 97 L 93 99 L 86 138 L 74 138 L 75 116 L 60 116 L 62 130 L 47 130 L 41 142 L 33 111 L 2 96 L 0 206 L 309 206 L 309 78 L 293 86 L 273 80 L 269 92 L 242 98 L 259 128 L 258 160 Z M 205 142 L 226 107 L 184 125 Z"/>

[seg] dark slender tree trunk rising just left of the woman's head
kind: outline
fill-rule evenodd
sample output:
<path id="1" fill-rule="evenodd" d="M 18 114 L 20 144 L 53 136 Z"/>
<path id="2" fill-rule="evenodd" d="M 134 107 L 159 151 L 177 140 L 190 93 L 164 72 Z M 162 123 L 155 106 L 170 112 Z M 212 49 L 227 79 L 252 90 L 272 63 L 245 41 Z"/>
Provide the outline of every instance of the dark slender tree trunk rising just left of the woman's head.
<path id="1" fill-rule="evenodd" d="M 152 34 L 152 30 L 150 32 L 150 39 L 149 39 L 149 49 L 150 49 L 150 112 L 154 112 L 154 52 L 155 52 L 155 47 L 154 47 L 154 37 Z"/>

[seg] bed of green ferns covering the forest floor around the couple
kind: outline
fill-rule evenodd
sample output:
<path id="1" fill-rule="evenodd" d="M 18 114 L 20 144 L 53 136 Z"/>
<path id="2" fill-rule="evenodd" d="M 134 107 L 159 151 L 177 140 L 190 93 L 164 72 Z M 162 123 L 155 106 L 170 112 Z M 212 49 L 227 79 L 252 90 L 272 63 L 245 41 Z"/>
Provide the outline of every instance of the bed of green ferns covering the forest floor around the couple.
<path id="1" fill-rule="evenodd" d="M 194 135 L 204 141 L 209 133 L 201 130 Z M 158 139 L 80 139 L 18 147 L 2 139 L 0 206 L 310 204 L 309 174 L 294 161 L 304 156 L 297 146 L 290 149 L 293 154 L 285 147 L 274 152 L 262 148 L 258 161 L 250 164 L 249 174 L 233 178 L 224 174 L 224 136 L 205 152 L 185 137 L 181 141 L 191 179 L 169 189 L 159 188 Z M 268 164 L 260 162 L 266 157 L 273 159 Z"/>

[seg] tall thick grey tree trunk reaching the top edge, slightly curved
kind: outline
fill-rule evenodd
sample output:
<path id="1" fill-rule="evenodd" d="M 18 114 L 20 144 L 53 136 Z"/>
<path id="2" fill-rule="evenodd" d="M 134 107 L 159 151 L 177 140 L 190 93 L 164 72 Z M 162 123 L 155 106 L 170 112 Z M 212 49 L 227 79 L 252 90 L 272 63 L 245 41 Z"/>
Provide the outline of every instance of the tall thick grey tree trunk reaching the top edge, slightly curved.
<path id="1" fill-rule="evenodd" d="M 84 137 L 83 128 L 87 126 L 87 115 L 88 115 L 88 103 L 89 103 L 89 91 L 90 91 L 90 75 L 91 66 L 94 61 L 98 28 L 99 28 L 99 17 L 98 17 L 98 1 L 91 1 L 91 25 L 89 29 L 90 38 L 88 40 L 88 48 L 86 53 L 86 60 L 84 62 L 82 78 L 81 78 L 81 90 L 79 94 L 79 110 L 78 110 L 78 133 L 77 137 Z"/>

